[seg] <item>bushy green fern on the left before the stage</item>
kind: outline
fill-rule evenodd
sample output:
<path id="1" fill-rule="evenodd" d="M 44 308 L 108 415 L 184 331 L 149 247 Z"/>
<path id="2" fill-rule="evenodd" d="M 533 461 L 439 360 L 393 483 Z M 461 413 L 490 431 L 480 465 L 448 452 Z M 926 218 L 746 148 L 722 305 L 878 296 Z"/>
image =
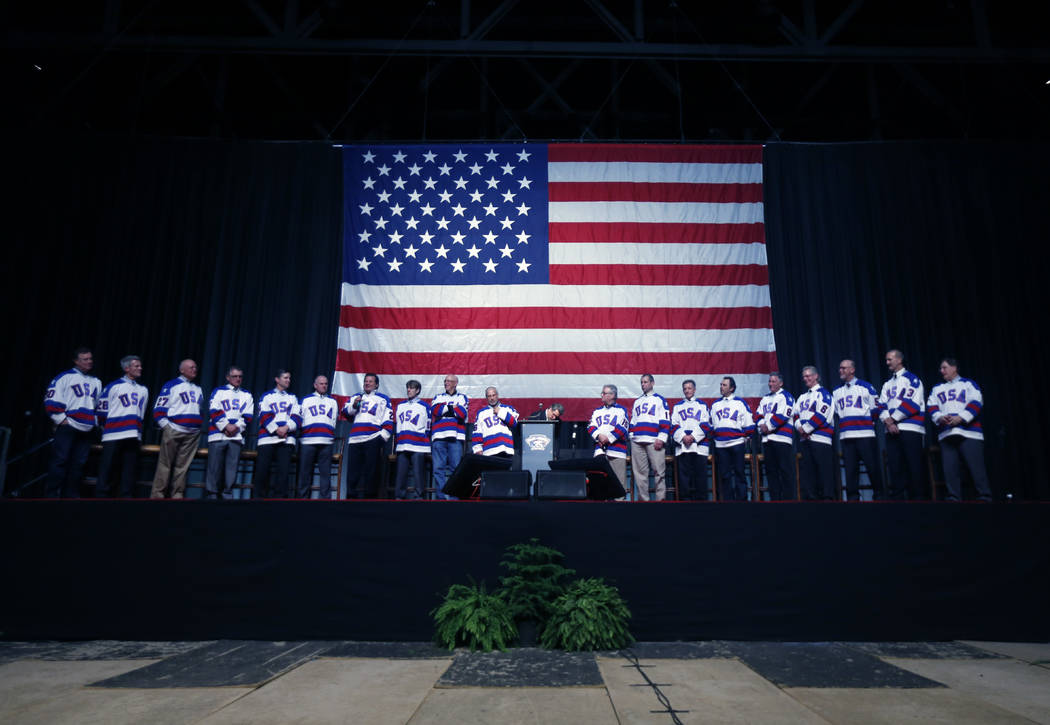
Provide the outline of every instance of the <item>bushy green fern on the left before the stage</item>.
<path id="1" fill-rule="evenodd" d="M 510 607 L 500 597 L 488 594 L 484 582 L 453 584 L 430 615 L 434 641 L 449 649 L 465 646 L 486 652 L 503 651 L 518 634 Z"/>

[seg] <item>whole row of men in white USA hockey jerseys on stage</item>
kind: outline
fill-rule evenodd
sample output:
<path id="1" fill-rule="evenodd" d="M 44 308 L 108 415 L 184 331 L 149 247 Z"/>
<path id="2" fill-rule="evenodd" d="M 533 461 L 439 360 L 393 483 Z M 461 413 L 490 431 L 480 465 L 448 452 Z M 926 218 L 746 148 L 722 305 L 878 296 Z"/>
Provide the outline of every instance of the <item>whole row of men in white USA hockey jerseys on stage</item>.
<path id="1" fill-rule="evenodd" d="M 643 394 L 630 412 L 617 401 L 616 387 L 606 385 L 587 429 L 594 441 L 593 455 L 607 457 L 621 482 L 626 484 L 630 451 L 638 498 L 659 501 L 666 497 L 667 449 L 673 441 L 678 498 L 707 500 L 707 460 L 713 444 L 720 498 L 744 500 L 744 443 L 757 432 L 762 441 L 770 496 L 773 500 L 789 500 L 796 497 L 797 436 L 802 497 L 831 500 L 838 493 L 838 467 L 833 450 L 837 421 L 848 499 L 860 498 L 862 460 L 875 498 L 921 499 L 926 497 L 922 450 L 928 413 L 939 429 L 948 499 L 961 498 L 961 469 L 965 464 L 979 498 L 990 500 L 980 421 L 982 397 L 976 384 L 959 375 L 954 359 L 944 358 L 941 361 L 944 381 L 924 399 L 922 381 L 905 370 L 900 351 L 886 353 L 886 366 L 890 377 L 881 392 L 856 377 L 852 360 L 843 360 L 839 366 L 842 385 L 834 392 L 822 387 L 817 369 L 807 366 L 802 370 L 806 391 L 797 400 L 784 390 L 780 373 L 771 373 L 770 394 L 754 411 L 736 397 L 736 384 L 730 376 L 722 378 L 720 397 L 710 406 L 696 397 L 693 380 L 682 381 L 684 398 L 671 407 L 654 392 L 653 376 L 645 374 L 640 378 Z M 123 358 L 124 375 L 104 389 L 98 378 L 88 374 L 92 367 L 91 351 L 78 349 L 72 369 L 59 374 L 48 386 L 45 408 L 56 426 L 48 496 L 77 495 L 96 428 L 102 429 L 97 495 L 111 493 L 111 474 L 118 469 L 120 494 L 131 495 L 148 399 L 148 391 L 138 381 L 142 360 L 135 355 Z M 194 382 L 196 364 L 183 360 L 178 373 L 164 385 L 153 405 L 153 418 L 162 429 L 151 494 L 154 498 L 184 497 L 186 474 L 204 422 L 204 395 Z M 338 412 L 336 401 L 328 395 L 328 378 L 323 375 L 314 379 L 314 393 L 299 400 L 289 392 L 291 374 L 278 370 L 274 389 L 262 395 L 257 406 L 252 394 L 242 387 L 243 378 L 242 369 L 231 367 L 226 375 L 227 385 L 216 388 L 208 400 L 207 497 L 233 497 L 244 434 L 256 407 L 258 437 L 253 475 L 256 497 L 308 498 L 316 465 L 320 496 L 330 498 L 332 448 L 339 417 L 351 421 L 346 455 L 348 491 L 353 497 L 375 495 L 375 473 L 392 436 L 396 437 L 398 453 L 398 498 L 422 496 L 425 454 L 433 455 L 434 488 L 438 492 L 462 455 L 469 400 L 458 391 L 459 380 L 455 375 L 445 377 L 445 392 L 428 403 L 419 397 L 420 384 L 410 380 L 406 398 L 395 410 L 390 397 L 378 390 L 379 376 L 370 373 L 363 378 L 362 391 L 351 396 Z M 482 455 L 512 456 L 518 412 L 500 400 L 496 388 L 486 390 L 486 403 L 475 416 L 470 448 Z M 558 420 L 563 410 L 560 403 L 554 403 L 538 414 Z M 883 486 L 878 462 L 877 420 L 881 420 L 886 432 L 891 473 L 888 489 Z M 297 439 L 299 471 L 296 482 L 289 486 L 291 454 Z M 277 476 L 271 486 L 274 462 Z M 442 493 L 437 496 L 445 497 Z"/>

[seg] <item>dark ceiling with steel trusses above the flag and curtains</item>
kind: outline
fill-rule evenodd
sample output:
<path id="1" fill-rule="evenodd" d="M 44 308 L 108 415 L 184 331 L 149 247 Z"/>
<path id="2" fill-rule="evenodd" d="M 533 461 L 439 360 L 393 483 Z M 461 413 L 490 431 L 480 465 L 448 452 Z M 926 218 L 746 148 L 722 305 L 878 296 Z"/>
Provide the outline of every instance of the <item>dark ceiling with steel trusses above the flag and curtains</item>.
<path id="1" fill-rule="evenodd" d="M 4 13 L 3 124 L 315 140 L 1045 139 L 987 0 L 94 0 Z"/>

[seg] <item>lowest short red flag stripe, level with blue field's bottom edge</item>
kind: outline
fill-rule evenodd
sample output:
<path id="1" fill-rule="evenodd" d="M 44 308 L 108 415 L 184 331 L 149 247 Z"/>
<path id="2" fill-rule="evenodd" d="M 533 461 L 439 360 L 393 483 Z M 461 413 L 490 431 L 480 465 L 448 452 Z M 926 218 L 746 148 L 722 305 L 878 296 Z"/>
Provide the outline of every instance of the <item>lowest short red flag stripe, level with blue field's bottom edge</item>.
<path id="1" fill-rule="evenodd" d="M 551 265 L 552 285 L 768 285 L 764 265 Z"/>

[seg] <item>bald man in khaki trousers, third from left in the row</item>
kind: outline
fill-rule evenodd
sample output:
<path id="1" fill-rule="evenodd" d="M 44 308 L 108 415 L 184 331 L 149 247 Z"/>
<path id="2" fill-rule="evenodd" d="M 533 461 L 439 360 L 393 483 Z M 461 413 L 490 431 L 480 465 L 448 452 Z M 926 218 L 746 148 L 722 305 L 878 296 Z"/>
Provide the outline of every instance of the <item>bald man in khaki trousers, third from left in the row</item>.
<path id="1" fill-rule="evenodd" d="M 193 462 L 201 438 L 201 402 L 204 391 L 193 382 L 196 362 L 185 359 L 178 364 L 178 377 L 161 388 L 153 403 L 153 421 L 161 429 L 161 454 L 156 459 L 153 490 L 150 498 L 164 498 L 171 483 L 171 498 L 186 496 L 186 472 Z"/>

